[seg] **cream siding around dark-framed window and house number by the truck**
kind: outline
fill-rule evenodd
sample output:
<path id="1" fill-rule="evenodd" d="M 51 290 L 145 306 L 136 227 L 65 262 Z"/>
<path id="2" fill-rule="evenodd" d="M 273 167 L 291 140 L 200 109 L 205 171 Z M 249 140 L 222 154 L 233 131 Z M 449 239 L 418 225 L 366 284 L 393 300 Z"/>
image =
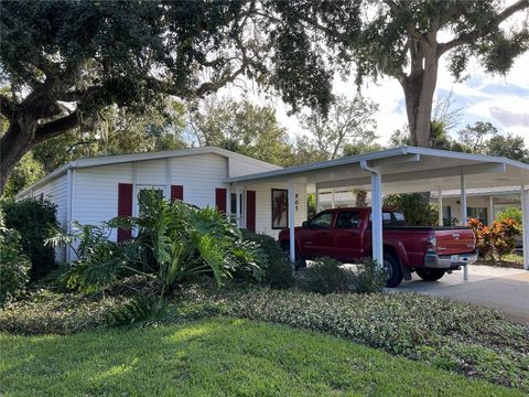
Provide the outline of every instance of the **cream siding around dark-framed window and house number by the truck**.
<path id="1" fill-rule="evenodd" d="M 261 183 L 246 186 L 256 192 L 256 232 L 278 238 L 279 229 L 272 229 L 272 189 L 288 189 L 287 183 Z M 298 194 L 298 211 L 295 211 L 295 226 L 306 221 L 306 187 L 303 184 L 295 185 Z"/>

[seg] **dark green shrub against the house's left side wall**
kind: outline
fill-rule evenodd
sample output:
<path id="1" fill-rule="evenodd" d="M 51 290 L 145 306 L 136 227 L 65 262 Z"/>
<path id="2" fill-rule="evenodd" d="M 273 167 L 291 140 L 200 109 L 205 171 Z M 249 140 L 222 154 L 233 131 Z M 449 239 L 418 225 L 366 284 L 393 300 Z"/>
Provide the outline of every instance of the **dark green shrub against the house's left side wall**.
<path id="1" fill-rule="evenodd" d="M 56 268 L 55 251 L 44 242 L 57 227 L 56 205 L 47 200 L 7 200 L 0 203 L 6 214 L 6 227 L 20 233 L 22 251 L 31 259 L 32 281 Z"/>

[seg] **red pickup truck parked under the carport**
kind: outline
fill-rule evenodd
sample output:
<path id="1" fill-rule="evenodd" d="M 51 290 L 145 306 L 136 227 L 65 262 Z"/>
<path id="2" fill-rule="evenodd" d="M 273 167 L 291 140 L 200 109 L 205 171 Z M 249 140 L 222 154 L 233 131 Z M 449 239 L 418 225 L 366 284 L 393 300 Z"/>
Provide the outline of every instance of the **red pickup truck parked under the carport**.
<path id="1" fill-rule="evenodd" d="M 371 208 L 336 208 L 319 213 L 295 228 L 299 267 L 306 259 L 331 257 L 343 262 L 371 256 Z M 407 226 L 400 211 L 384 208 L 384 266 L 388 287 L 398 286 L 415 271 L 423 280 L 435 281 L 446 271 L 477 258 L 474 233 L 469 227 Z M 279 244 L 290 249 L 289 229 L 279 234 Z"/>

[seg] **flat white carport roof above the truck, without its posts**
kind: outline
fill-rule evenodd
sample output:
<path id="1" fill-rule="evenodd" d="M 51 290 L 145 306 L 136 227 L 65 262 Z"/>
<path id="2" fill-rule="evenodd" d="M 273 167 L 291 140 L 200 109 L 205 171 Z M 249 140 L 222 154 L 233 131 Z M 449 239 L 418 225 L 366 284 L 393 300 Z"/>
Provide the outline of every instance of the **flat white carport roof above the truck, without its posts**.
<path id="1" fill-rule="evenodd" d="M 231 178 L 228 182 L 252 184 L 293 180 L 316 189 L 370 190 L 370 174 L 360 168 L 363 160 L 381 173 L 384 194 L 460 189 L 462 174 L 468 176 L 467 189 L 529 185 L 529 164 L 506 158 L 414 147 Z"/>

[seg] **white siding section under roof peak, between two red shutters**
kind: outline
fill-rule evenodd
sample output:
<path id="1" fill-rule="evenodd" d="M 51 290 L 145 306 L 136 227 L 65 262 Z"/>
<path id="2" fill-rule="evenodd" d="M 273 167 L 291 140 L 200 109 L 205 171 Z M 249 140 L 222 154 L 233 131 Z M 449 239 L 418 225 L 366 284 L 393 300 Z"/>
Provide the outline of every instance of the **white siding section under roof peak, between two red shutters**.
<path id="1" fill-rule="evenodd" d="M 215 189 L 227 187 L 228 159 L 201 154 L 171 160 L 171 184 L 184 186 L 184 202 L 205 207 L 215 205 Z"/>

